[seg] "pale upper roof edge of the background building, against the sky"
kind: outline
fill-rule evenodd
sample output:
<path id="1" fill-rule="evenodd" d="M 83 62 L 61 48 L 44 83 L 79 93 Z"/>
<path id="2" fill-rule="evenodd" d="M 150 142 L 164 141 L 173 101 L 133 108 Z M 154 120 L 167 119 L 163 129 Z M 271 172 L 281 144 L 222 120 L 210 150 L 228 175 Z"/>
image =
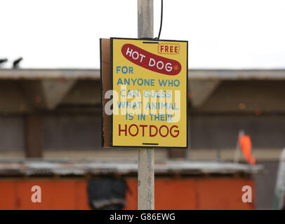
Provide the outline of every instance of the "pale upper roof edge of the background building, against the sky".
<path id="1" fill-rule="evenodd" d="M 100 69 L 0 69 L 0 79 L 93 79 Z M 190 69 L 190 80 L 285 80 L 285 69 Z"/>

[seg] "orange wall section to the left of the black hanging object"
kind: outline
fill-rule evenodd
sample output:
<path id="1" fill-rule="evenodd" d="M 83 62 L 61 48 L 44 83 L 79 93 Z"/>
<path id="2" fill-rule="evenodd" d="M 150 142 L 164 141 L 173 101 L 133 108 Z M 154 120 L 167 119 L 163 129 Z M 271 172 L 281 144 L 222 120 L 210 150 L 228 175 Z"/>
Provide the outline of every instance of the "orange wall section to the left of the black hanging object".
<path id="1" fill-rule="evenodd" d="M 41 203 L 31 201 L 41 187 Z M 89 209 L 85 180 L 0 180 L 0 209 Z"/>

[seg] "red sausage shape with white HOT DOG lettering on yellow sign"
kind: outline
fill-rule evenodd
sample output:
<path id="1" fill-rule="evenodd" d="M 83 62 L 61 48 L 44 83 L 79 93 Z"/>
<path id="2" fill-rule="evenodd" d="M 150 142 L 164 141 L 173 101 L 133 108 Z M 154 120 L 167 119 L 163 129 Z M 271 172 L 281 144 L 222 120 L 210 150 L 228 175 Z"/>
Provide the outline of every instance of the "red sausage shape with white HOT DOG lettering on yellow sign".
<path id="1" fill-rule="evenodd" d="M 121 53 L 129 61 L 151 71 L 156 71 L 168 76 L 175 76 L 181 71 L 181 64 L 178 61 L 154 55 L 131 43 L 124 44 L 121 47 Z"/>

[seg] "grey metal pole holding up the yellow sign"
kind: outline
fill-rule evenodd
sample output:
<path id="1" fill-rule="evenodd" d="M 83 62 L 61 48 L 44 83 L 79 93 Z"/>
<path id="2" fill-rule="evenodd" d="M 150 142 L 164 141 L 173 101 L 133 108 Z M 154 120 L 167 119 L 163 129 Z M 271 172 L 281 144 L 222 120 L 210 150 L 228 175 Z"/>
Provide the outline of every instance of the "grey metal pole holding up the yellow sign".
<path id="1" fill-rule="evenodd" d="M 153 0 L 138 0 L 138 38 L 153 38 Z M 138 209 L 154 210 L 154 149 L 138 149 Z"/>

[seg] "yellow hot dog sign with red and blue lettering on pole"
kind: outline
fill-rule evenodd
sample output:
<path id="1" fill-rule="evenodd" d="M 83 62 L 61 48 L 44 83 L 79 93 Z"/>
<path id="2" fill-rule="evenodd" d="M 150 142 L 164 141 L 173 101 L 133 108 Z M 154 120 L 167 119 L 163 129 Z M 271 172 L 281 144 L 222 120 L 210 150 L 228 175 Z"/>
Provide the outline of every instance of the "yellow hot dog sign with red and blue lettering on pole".
<path id="1" fill-rule="evenodd" d="M 187 148 L 187 48 L 111 38 L 112 146 Z"/>

